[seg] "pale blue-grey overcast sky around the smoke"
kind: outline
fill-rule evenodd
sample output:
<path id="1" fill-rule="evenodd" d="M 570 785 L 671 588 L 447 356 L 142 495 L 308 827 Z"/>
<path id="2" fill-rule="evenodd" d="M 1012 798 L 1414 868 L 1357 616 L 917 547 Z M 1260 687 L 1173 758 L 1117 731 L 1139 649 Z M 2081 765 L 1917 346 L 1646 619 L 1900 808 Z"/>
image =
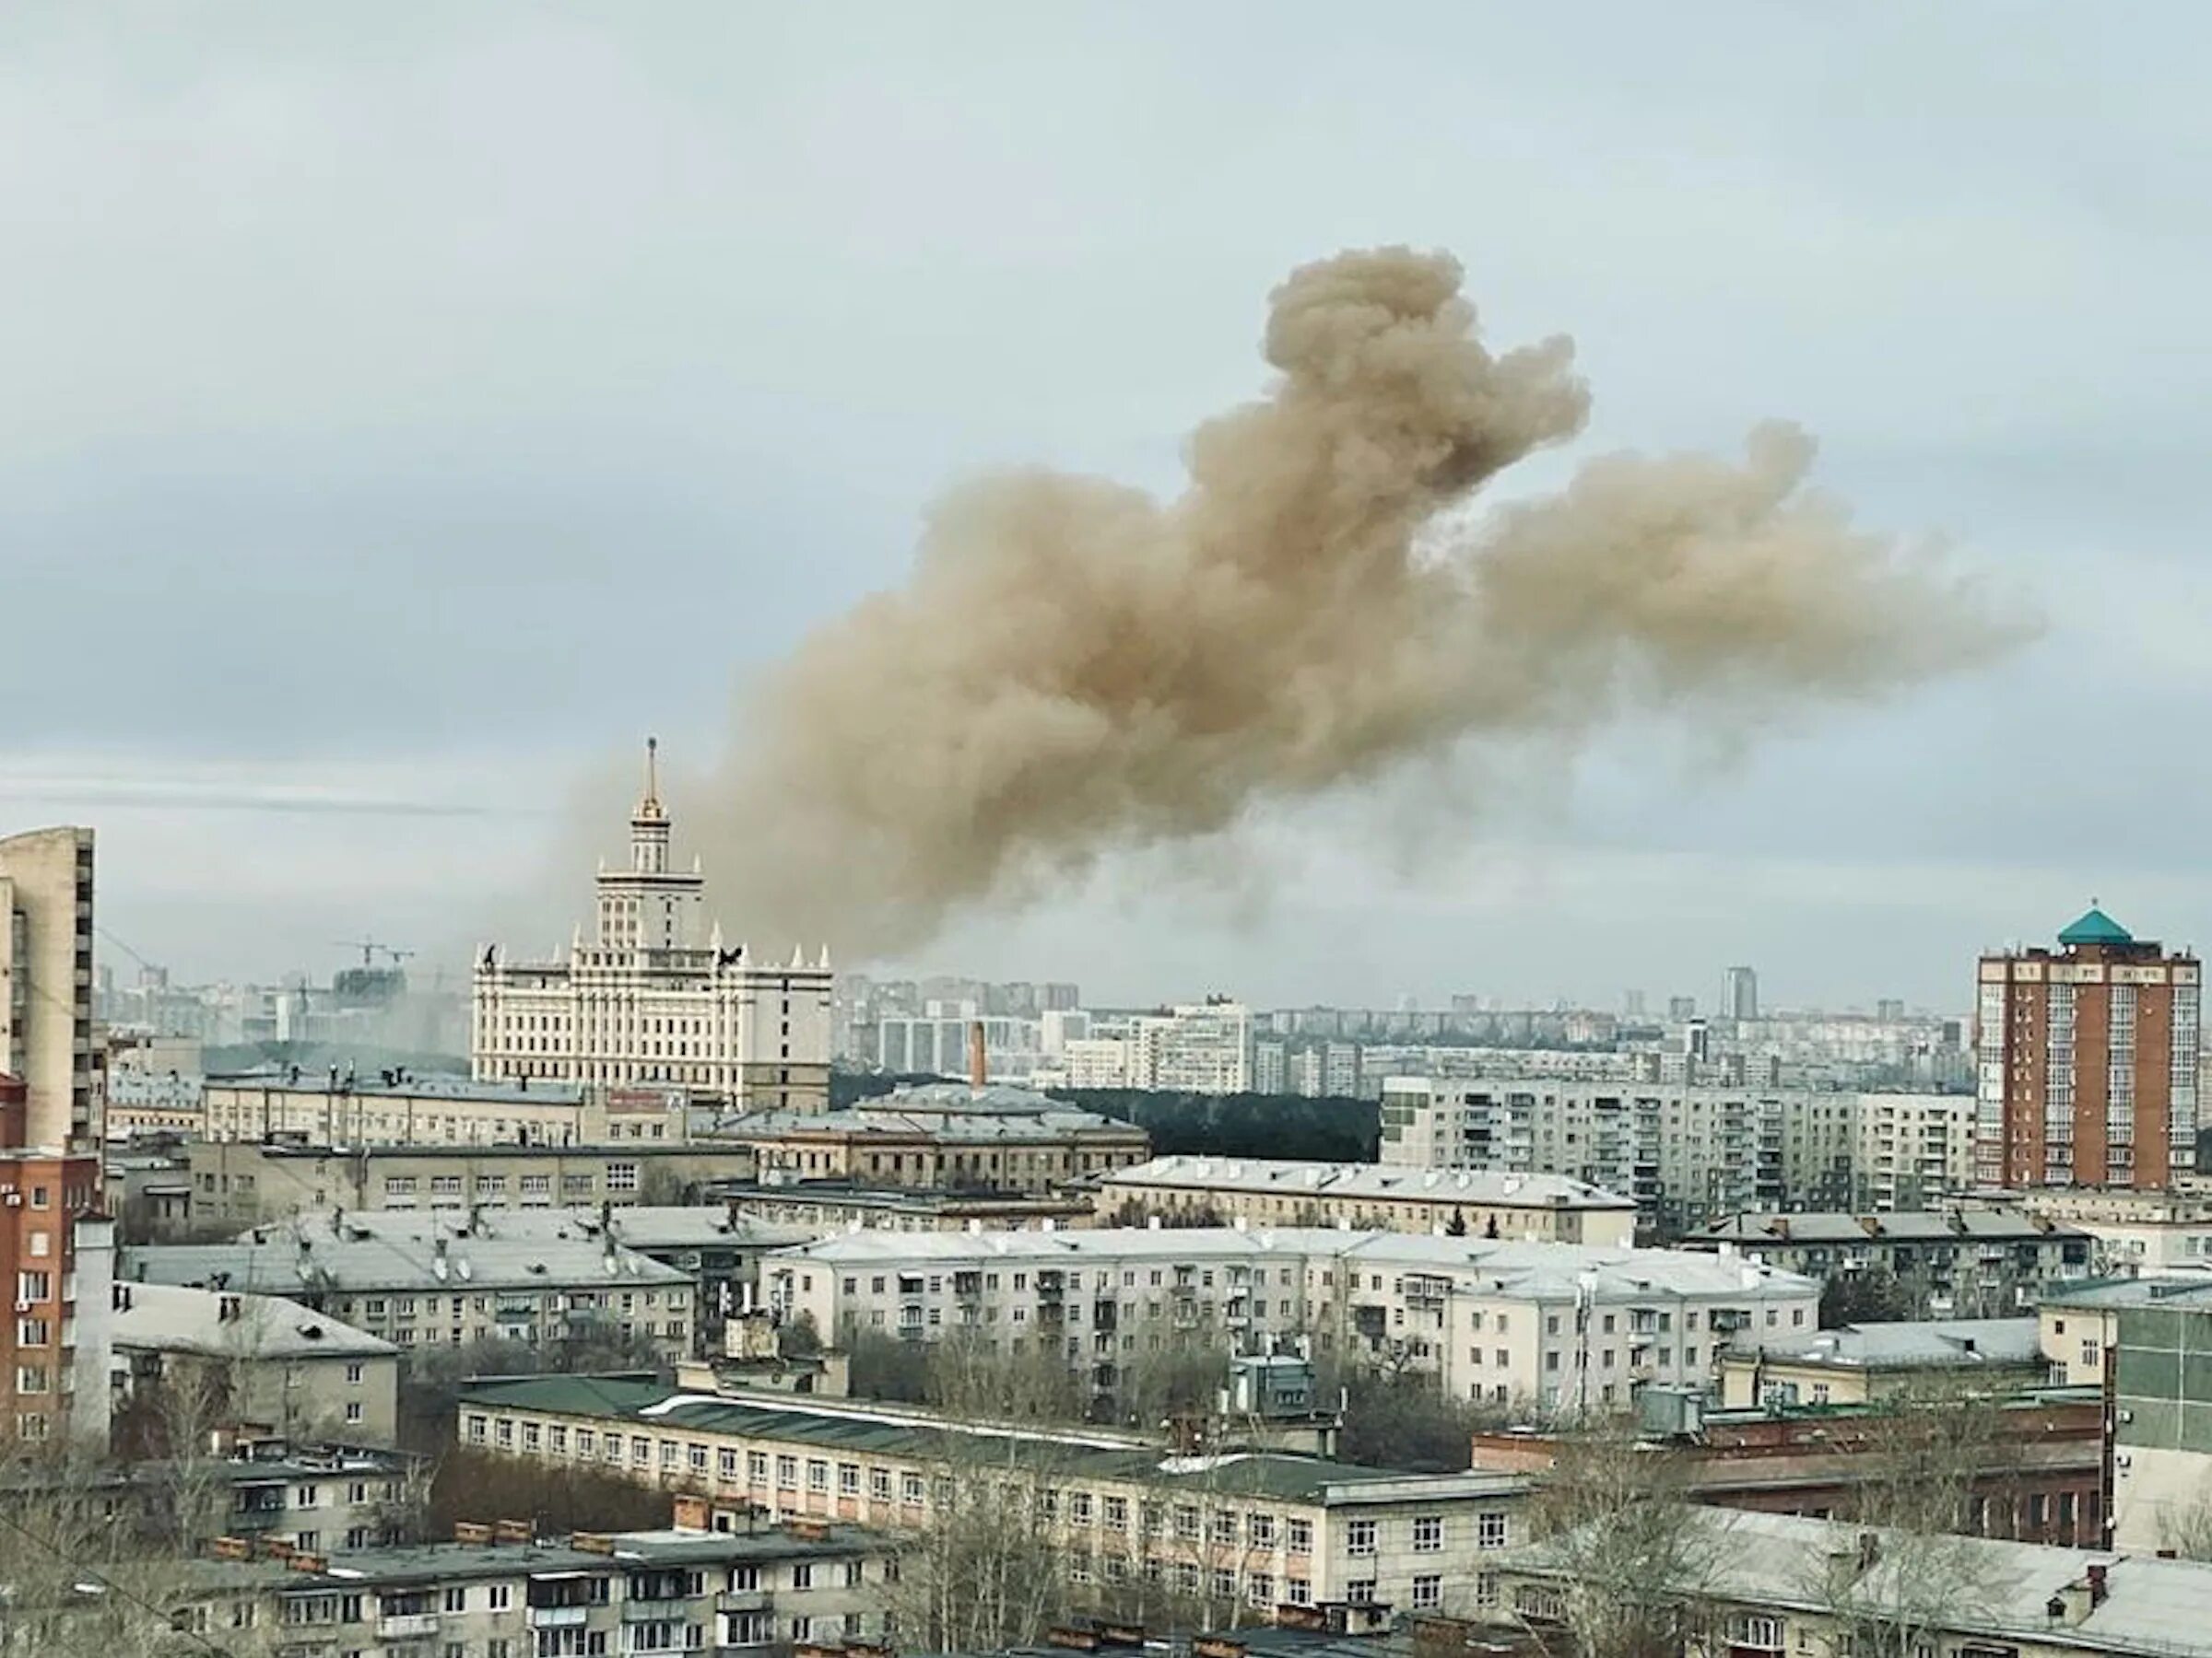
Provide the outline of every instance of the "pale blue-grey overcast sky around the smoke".
<path id="1" fill-rule="evenodd" d="M 1444 842 L 1318 807 L 1219 886 L 1106 869 L 922 966 L 1964 1006 L 2090 893 L 2212 942 L 2208 46 L 2188 4 L 9 7 L 0 827 L 95 825 L 102 926 L 184 979 L 566 940 L 582 776 L 708 752 L 951 478 L 1172 489 L 1272 283 L 1405 241 L 1495 343 L 1575 336 L 1593 431 L 1535 482 L 1792 416 L 2046 637 L 1719 763 L 1506 763 Z"/>

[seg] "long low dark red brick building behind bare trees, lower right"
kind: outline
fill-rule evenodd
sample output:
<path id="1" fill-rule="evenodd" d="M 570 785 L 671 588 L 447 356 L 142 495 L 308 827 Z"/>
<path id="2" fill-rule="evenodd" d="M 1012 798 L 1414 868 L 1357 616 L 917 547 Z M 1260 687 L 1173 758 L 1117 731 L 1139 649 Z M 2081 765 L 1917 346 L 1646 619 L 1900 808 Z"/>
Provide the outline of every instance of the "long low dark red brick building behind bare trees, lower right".
<path id="1" fill-rule="evenodd" d="M 1918 1448 L 1953 1441 L 1942 1399 L 1714 1408 L 1688 1388 L 1652 1388 L 1639 1404 L 1637 1444 L 1668 1452 L 1692 1501 L 1763 1514 L 1851 1512 L 1869 1486 L 1893 1486 Z M 2104 1543 L 2099 1388 L 2035 1388 L 1964 1408 L 1991 1415 L 1960 1441 L 1975 1461 L 1955 1530 L 2062 1547 Z M 1542 1477 L 1571 1441 L 1573 1430 L 1478 1433 L 1473 1466 Z"/>

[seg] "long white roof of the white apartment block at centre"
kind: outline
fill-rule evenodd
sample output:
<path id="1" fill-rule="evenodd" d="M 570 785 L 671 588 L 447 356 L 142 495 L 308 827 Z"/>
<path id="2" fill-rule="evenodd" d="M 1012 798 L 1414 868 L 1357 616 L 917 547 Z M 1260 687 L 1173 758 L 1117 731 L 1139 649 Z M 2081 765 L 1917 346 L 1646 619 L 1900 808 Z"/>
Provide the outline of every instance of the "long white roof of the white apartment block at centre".
<path id="1" fill-rule="evenodd" d="M 1462 1293 L 1571 1300 L 1809 1300 L 1820 1287 L 1801 1273 L 1690 1249 L 1632 1249 L 1489 1238 L 1420 1238 L 1402 1231 L 1334 1227 L 1095 1227 L 1084 1231 L 852 1231 L 776 1260 L 825 1267 L 956 1269 L 1026 1262 L 1091 1267 L 1110 1260 L 1159 1262 L 1356 1262 L 1376 1271 L 1449 1276 Z"/>

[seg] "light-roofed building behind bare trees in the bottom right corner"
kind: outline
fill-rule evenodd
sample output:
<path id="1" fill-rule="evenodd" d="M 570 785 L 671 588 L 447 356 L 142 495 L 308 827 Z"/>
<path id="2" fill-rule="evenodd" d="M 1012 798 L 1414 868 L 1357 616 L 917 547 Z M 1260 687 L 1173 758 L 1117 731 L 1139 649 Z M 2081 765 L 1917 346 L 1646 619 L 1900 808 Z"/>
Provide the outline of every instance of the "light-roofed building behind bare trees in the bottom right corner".
<path id="1" fill-rule="evenodd" d="M 2108 1550 L 1958 1539 L 1929 1561 L 1927 1541 L 1847 1521 L 1697 1508 L 1672 1559 L 1694 1576 L 1674 1589 L 1730 1654 L 1847 1651 L 1869 1623 L 1902 1629 L 1918 1651 L 1960 1658 L 2077 1658 L 2205 1649 L 2212 1565 Z M 1575 1539 L 1540 1543 L 1498 1570 L 1495 1616 L 1537 1634 L 1566 1618 Z M 1807 1570 L 1814 1567 L 1814 1570 Z"/>

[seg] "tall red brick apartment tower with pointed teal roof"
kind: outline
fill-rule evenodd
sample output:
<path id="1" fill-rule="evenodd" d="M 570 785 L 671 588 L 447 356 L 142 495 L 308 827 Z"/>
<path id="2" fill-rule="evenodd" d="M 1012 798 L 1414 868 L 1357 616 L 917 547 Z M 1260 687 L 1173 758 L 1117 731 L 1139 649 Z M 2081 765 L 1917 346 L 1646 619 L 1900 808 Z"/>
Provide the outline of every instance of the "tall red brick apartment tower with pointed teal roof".
<path id="1" fill-rule="evenodd" d="M 2154 1189 L 2197 1167 L 2194 955 L 2090 909 L 1978 979 L 1975 1180 Z"/>

